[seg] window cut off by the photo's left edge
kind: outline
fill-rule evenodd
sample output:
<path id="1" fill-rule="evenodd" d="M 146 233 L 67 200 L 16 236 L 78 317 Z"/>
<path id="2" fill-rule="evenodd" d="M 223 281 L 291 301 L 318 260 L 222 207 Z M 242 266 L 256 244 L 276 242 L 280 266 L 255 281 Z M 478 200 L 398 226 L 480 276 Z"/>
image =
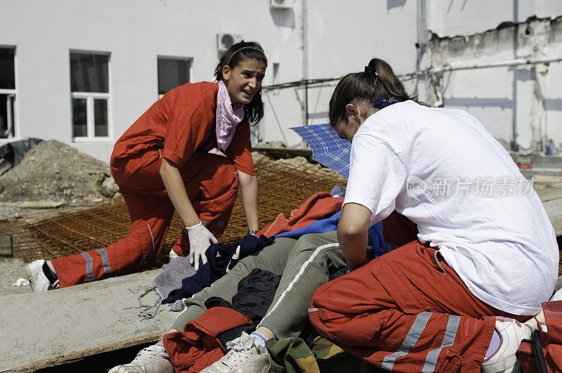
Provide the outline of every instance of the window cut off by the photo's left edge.
<path id="1" fill-rule="evenodd" d="M 0 138 L 15 136 L 15 48 L 0 48 Z"/>

